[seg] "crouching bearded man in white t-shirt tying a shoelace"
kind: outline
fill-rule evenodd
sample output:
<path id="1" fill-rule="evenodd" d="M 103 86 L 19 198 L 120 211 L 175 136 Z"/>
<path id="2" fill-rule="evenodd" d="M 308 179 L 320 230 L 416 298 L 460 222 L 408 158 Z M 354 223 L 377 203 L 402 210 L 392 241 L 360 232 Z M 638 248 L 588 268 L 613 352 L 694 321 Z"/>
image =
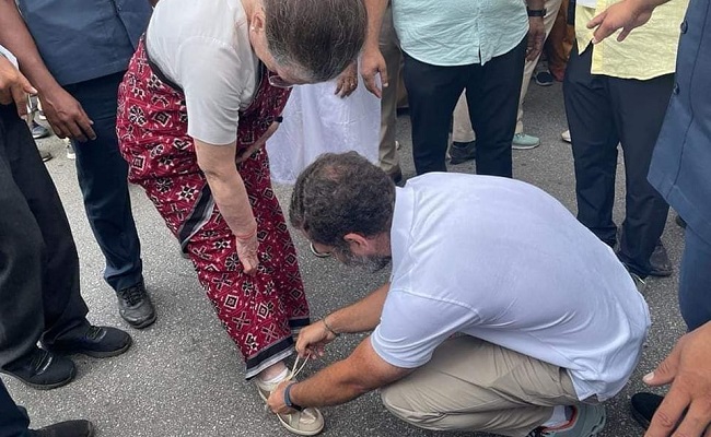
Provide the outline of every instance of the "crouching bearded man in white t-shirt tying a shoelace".
<path id="1" fill-rule="evenodd" d="M 272 392 L 272 411 L 381 388 L 393 414 L 429 429 L 601 432 L 601 402 L 634 369 L 649 310 L 613 250 L 556 199 L 463 174 L 395 188 L 365 158 L 327 154 L 299 177 L 290 215 L 314 252 L 372 270 L 392 260 L 393 272 L 301 331 L 305 355 L 373 330 L 348 358 Z"/>

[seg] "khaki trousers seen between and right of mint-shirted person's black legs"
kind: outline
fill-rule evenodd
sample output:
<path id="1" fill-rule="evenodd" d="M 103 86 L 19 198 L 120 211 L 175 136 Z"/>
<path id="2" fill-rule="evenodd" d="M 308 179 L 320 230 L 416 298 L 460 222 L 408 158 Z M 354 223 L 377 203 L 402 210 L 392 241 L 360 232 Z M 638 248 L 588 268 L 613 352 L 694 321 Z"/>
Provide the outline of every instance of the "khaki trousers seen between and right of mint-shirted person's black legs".
<path id="1" fill-rule="evenodd" d="M 546 28 L 546 36 L 550 34 L 550 29 L 556 23 L 558 10 L 562 0 L 546 0 L 546 16 L 544 16 L 544 27 Z M 523 68 L 523 82 L 521 84 L 521 96 L 518 97 L 518 116 L 516 118 L 516 133 L 523 133 L 523 101 L 528 93 L 528 84 L 533 75 L 536 64 L 538 63 L 538 56 L 536 59 L 526 61 Z M 454 108 L 454 122 L 452 129 L 452 141 L 459 143 L 468 143 L 475 140 L 474 129 L 471 129 L 471 120 L 469 119 L 469 109 L 467 107 L 467 98 L 465 93 L 462 93 L 457 106 Z"/>

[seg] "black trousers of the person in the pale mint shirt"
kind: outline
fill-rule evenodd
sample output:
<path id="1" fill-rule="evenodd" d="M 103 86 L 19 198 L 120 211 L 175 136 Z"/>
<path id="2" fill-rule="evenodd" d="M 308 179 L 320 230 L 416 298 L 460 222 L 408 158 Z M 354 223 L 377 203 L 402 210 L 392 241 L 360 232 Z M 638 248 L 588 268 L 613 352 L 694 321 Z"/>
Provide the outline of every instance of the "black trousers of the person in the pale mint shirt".
<path id="1" fill-rule="evenodd" d="M 403 79 L 418 175 L 446 172 L 452 113 L 466 88 L 469 117 L 477 134 L 477 173 L 512 176 L 511 141 L 516 130 L 525 54 L 526 38 L 483 66 L 432 66 L 405 54 Z"/>

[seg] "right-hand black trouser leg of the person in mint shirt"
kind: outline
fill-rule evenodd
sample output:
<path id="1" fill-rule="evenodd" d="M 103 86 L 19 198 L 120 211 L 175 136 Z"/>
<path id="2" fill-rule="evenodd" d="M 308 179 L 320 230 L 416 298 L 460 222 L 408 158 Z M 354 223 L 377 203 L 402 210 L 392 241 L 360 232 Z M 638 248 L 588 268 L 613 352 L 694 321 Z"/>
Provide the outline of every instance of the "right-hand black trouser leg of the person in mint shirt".
<path id="1" fill-rule="evenodd" d="M 477 132 L 477 174 L 512 177 L 511 140 L 526 51 L 526 38 L 505 55 L 477 66 L 467 78 L 467 103 Z"/>

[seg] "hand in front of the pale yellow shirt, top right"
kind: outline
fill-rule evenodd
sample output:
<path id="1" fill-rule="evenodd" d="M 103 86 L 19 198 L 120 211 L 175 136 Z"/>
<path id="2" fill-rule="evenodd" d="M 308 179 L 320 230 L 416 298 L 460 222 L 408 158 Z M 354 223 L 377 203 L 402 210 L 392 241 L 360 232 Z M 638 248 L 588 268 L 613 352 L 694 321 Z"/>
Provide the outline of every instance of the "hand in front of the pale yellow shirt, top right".
<path id="1" fill-rule="evenodd" d="M 597 27 L 593 34 L 593 44 L 602 42 L 620 27 L 622 32 L 617 35 L 617 40 L 623 40 L 634 27 L 650 21 L 653 10 L 654 5 L 644 0 L 625 0 L 613 4 L 587 23 L 587 28 Z"/>

